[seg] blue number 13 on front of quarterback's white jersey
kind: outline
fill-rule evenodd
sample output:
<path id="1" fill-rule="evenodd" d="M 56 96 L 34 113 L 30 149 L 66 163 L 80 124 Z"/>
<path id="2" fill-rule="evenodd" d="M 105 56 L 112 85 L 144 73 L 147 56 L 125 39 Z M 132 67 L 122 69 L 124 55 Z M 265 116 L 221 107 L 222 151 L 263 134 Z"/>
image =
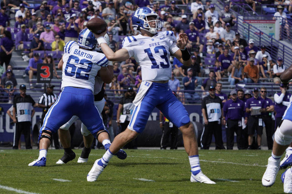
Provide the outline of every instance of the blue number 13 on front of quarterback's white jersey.
<path id="1" fill-rule="evenodd" d="M 161 59 L 164 59 L 165 62 L 160 62 L 160 66 L 162 68 L 169 68 L 169 60 L 168 60 L 168 57 L 167 57 L 167 51 L 165 49 L 164 46 L 160 45 L 160 46 L 156 46 L 154 48 L 154 53 L 159 53 L 159 51 L 162 50 L 163 51 L 163 55 L 159 55 L 159 57 Z M 152 62 L 152 65 L 151 65 L 151 69 L 159 69 L 159 65 L 157 64 L 153 54 L 152 54 L 152 51 L 150 48 L 148 49 L 144 49 L 144 52 L 147 53 L 149 59 L 151 60 Z M 155 57 L 158 57 L 158 55 L 155 55 Z M 166 63 L 166 64 L 165 64 Z"/>

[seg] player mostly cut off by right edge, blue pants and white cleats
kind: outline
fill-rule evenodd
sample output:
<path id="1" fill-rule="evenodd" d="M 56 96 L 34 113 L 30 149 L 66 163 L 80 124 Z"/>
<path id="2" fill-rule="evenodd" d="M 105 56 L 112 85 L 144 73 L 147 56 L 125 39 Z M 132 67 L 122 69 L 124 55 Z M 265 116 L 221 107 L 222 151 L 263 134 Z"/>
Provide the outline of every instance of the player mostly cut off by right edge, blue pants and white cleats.
<path id="1" fill-rule="evenodd" d="M 292 79 L 292 65 L 284 71 L 280 79 L 282 82 L 287 83 Z M 280 159 L 283 155 L 285 149 L 292 142 L 292 106 L 291 103 L 288 105 L 283 119 L 281 120 L 278 128 L 275 132 L 274 144 L 272 156 L 268 159 L 267 169 L 262 176 L 262 185 L 263 186 L 272 186 L 275 183 L 276 176 L 280 169 Z M 283 172 L 281 176 L 282 182 L 284 183 L 284 192 L 292 193 L 292 171 L 291 168 Z"/>

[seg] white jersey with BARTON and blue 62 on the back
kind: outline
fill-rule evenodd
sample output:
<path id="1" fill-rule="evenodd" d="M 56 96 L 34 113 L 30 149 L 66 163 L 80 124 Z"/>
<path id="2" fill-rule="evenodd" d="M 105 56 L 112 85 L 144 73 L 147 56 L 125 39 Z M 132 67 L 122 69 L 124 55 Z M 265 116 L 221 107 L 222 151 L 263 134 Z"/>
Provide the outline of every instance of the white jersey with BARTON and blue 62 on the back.
<path id="1" fill-rule="evenodd" d="M 77 42 L 69 41 L 64 46 L 63 62 L 61 90 L 71 86 L 93 92 L 96 74 L 108 60 L 103 53 L 81 49 Z"/>

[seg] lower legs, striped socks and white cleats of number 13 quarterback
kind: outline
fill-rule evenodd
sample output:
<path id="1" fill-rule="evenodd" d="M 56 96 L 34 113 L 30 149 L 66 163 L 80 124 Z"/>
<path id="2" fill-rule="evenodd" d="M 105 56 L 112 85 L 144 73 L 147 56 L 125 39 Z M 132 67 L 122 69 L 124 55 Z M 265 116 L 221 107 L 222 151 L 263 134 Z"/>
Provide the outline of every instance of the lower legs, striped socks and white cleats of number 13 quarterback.
<path id="1" fill-rule="evenodd" d="M 182 131 L 185 149 L 189 155 L 189 162 L 192 172 L 190 181 L 207 184 L 216 184 L 214 181 L 211 181 L 206 175 L 204 175 L 203 172 L 201 171 L 198 155 L 198 146 L 196 142 L 193 124 L 189 122 L 188 124 L 181 126 L 179 129 Z M 96 181 L 99 175 L 103 172 L 104 168 L 108 165 L 109 160 L 113 157 L 113 154 L 116 153 L 128 142 L 135 139 L 138 135 L 139 133 L 128 128 L 124 132 L 117 135 L 116 138 L 113 140 L 110 149 L 106 151 L 106 153 L 103 155 L 101 159 L 97 159 L 94 162 L 92 169 L 89 171 L 87 175 L 87 181 L 89 182 Z"/>

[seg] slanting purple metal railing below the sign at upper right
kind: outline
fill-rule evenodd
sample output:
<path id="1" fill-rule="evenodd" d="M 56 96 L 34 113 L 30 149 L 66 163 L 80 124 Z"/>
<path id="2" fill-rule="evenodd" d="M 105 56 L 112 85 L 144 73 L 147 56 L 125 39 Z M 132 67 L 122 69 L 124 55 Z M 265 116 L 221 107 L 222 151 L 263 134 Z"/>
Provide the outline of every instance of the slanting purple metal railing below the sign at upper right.
<path id="1" fill-rule="evenodd" d="M 292 61 L 292 48 L 287 45 L 284 45 L 280 41 L 277 41 L 275 38 L 272 38 L 270 35 L 262 32 L 255 26 L 249 24 L 245 20 L 237 17 L 237 31 L 243 35 L 245 39 L 254 39 L 255 46 L 258 48 L 261 45 L 265 45 L 267 47 L 266 51 L 269 52 L 273 62 L 276 62 L 277 57 L 283 58 L 283 64 L 286 67 L 291 65 Z"/>

